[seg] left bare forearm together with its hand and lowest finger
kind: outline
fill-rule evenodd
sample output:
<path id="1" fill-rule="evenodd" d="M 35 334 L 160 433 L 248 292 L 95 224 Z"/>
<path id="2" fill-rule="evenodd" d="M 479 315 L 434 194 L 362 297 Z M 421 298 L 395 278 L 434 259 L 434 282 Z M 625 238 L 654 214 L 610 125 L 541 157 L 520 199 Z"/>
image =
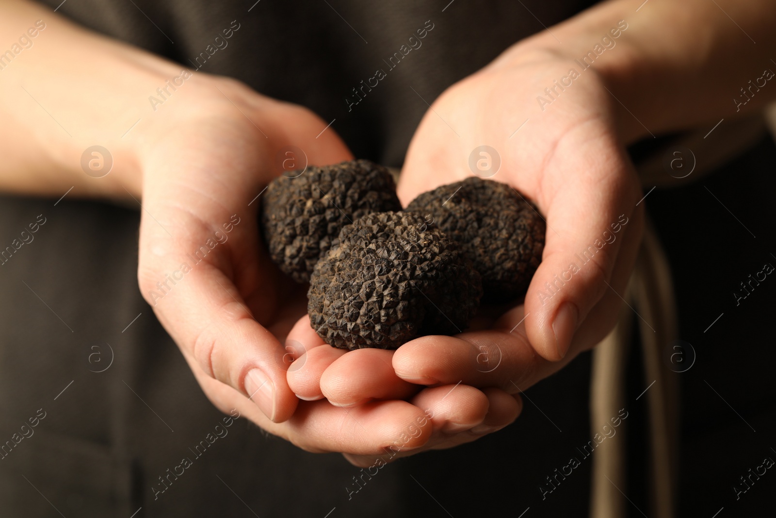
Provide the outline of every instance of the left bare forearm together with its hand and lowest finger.
<path id="1" fill-rule="evenodd" d="M 352 158 L 334 128 L 239 82 L 182 73 L 33 2 L 0 5 L 0 34 L 18 37 L 36 19 L 46 27 L 34 52 L 2 72 L 0 115 L 13 123 L 0 127 L 0 189 L 140 209 L 140 290 L 223 412 L 237 408 L 314 451 L 377 455 L 424 444 L 430 426 L 418 422 L 417 406 L 296 408 L 286 383 L 294 356 L 282 343 L 306 297 L 268 260 L 256 212 L 262 189 L 283 170 Z M 90 165 L 112 158 L 111 169 L 83 169 L 95 144 L 110 157 L 103 151 L 106 162 Z M 279 156 L 289 146 L 302 152 Z"/>

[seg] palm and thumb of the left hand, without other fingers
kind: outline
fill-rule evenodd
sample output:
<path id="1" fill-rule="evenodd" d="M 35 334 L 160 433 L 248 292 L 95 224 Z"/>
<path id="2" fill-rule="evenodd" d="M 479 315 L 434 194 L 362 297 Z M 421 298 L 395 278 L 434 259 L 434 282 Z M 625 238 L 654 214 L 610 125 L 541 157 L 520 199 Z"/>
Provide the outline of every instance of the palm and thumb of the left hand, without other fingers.
<path id="1" fill-rule="evenodd" d="M 298 400 L 281 340 L 306 297 L 261 242 L 261 194 L 289 165 L 352 155 L 309 110 L 203 74 L 139 130 L 143 296 L 219 408 L 255 404 L 267 421 L 286 421 Z"/>

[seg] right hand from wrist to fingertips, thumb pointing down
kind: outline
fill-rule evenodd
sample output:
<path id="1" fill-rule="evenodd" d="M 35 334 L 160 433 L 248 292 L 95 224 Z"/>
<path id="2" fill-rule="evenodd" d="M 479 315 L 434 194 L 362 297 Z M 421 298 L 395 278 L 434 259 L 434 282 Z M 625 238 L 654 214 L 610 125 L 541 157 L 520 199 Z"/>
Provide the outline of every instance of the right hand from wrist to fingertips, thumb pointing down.
<path id="1" fill-rule="evenodd" d="M 616 101 L 592 69 L 579 71 L 554 52 L 508 50 L 433 103 L 411 141 L 398 186 L 406 205 L 420 193 L 477 175 L 532 200 L 546 219 L 546 245 L 525 300 L 481 308 L 473 329 L 461 335 L 414 339 L 390 356 L 334 358 L 320 374 L 322 394 L 339 390 L 331 379 L 347 379 L 348 371 L 380 373 L 397 387 L 395 380 L 460 383 L 517 394 L 612 329 L 639 249 L 642 195 L 618 139 Z M 545 89 L 552 88 L 548 96 Z M 385 367 L 389 357 L 393 371 Z M 379 397 L 378 385 L 372 378 L 358 385 L 360 391 L 347 388 L 345 400 Z"/>

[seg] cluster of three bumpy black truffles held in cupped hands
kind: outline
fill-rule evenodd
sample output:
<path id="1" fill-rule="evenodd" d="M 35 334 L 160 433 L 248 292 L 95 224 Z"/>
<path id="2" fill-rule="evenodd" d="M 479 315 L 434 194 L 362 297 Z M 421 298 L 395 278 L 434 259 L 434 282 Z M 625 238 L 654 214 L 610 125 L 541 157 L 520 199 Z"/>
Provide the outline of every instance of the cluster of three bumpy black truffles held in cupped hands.
<path id="1" fill-rule="evenodd" d="M 310 325 L 331 346 L 396 349 L 466 329 L 484 296 L 525 294 L 545 222 L 516 190 L 480 178 L 410 203 L 366 160 L 308 168 L 267 189 L 262 229 L 272 260 L 310 282 Z"/>

